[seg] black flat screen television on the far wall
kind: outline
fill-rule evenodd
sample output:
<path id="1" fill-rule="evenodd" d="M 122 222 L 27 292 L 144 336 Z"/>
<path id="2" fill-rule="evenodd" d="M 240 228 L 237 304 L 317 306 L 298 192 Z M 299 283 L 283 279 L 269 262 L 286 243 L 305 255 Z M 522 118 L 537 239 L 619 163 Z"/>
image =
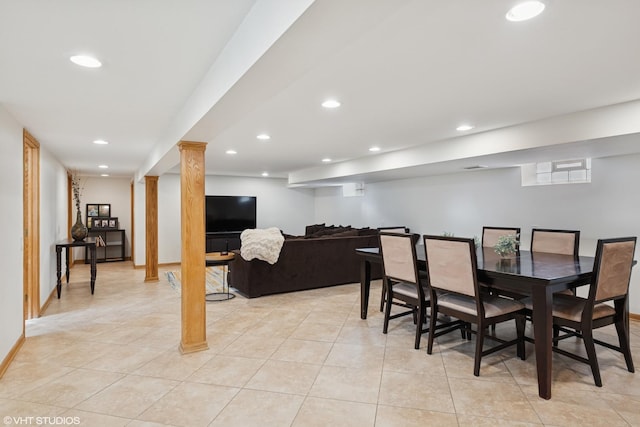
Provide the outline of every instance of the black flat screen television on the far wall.
<path id="1" fill-rule="evenodd" d="M 256 198 L 253 196 L 206 196 L 207 233 L 238 232 L 256 228 Z"/>

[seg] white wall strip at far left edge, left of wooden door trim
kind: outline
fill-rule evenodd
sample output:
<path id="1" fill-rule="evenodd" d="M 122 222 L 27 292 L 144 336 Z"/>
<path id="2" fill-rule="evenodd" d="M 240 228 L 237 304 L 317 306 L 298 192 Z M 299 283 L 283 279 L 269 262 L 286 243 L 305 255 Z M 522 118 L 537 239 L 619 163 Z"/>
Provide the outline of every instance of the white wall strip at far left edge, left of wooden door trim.
<path id="1" fill-rule="evenodd" d="M 0 105 L 0 361 L 23 332 L 22 126 Z"/>

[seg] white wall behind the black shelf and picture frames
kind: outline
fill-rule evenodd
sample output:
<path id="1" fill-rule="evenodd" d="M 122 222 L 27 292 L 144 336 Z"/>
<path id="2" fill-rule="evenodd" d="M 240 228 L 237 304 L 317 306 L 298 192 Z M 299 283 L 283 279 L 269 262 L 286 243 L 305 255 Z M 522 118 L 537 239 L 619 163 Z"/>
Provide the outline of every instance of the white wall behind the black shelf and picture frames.
<path id="1" fill-rule="evenodd" d="M 125 231 L 124 254 L 131 256 L 131 178 L 84 177 L 81 185 L 80 209 L 84 224 L 87 225 L 87 204 L 110 204 L 111 217 L 118 218 L 118 228 Z M 76 252 L 76 257 L 84 259 L 84 250 Z"/>

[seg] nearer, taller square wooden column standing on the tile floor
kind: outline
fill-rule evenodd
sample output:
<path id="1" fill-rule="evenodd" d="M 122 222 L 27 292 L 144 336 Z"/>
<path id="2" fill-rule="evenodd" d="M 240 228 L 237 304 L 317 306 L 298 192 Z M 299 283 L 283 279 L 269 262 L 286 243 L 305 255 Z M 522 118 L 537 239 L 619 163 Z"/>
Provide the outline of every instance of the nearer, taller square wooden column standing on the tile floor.
<path id="1" fill-rule="evenodd" d="M 204 142 L 180 141 L 182 340 L 180 351 L 207 350 Z"/>

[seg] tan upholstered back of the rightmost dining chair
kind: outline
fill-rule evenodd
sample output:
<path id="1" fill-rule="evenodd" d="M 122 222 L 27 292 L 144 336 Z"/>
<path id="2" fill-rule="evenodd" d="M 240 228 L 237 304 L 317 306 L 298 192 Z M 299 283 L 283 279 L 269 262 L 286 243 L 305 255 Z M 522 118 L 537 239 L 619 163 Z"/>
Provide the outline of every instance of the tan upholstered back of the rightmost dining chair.
<path id="1" fill-rule="evenodd" d="M 590 300 L 600 302 L 627 295 L 635 250 L 636 237 L 598 240 Z"/>

